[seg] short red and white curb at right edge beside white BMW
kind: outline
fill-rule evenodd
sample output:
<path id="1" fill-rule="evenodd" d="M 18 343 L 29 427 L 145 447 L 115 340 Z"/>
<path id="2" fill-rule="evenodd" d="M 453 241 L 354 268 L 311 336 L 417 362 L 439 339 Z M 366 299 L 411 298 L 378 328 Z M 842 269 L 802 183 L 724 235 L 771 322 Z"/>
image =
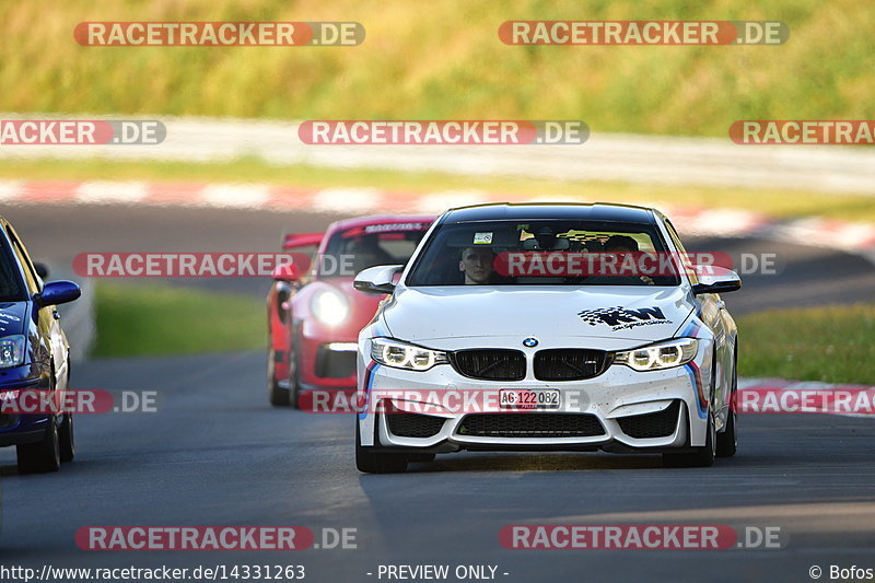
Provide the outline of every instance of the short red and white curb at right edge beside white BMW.
<path id="1" fill-rule="evenodd" d="M 739 378 L 736 407 L 743 413 L 827 413 L 875 418 L 875 386 Z"/>

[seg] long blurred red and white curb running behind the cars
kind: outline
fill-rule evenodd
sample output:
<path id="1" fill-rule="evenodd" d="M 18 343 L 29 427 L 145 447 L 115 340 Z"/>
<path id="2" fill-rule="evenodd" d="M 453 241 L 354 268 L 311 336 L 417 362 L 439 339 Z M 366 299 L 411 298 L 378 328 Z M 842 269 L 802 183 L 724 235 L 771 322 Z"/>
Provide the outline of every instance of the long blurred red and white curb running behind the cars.
<path id="1" fill-rule="evenodd" d="M 483 190 L 410 193 L 240 183 L 0 180 L 0 203 L 4 205 L 142 205 L 355 215 L 374 212 L 436 214 L 452 207 L 498 201 L 592 202 L 574 195 L 529 196 Z M 875 260 L 875 224 L 872 223 L 817 217 L 781 221 L 743 209 L 685 207 L 660 201 L 640 203 L 661 209 L 691 235 L 757 235 L 861 253 Z"/>

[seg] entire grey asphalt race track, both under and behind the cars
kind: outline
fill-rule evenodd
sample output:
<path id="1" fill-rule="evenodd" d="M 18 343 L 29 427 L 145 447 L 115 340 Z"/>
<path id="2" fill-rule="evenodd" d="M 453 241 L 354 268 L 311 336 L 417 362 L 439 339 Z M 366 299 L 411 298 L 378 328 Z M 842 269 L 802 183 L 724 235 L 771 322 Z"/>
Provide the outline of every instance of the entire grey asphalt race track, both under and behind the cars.
<path id="1" fill-rule="evenodd" d="M 86 250 L 275 250 L 284 231 L 332 219 L 119 207 L 3 213 L 32 255 L 68 266 Z M 761 240 L 689 247 L 779 254 L 780 275 L 748 277 L 726 298 L 736 314 L 875 295 L 875 268 L 839 252 Z M 180 283 L 267 289 L 260 280 Z M 74 388 L 155 390 L 161 410 L 80 415 L 77 460 L 56 475 L 20 477 L 14 450 L 0 450 L 0 565 L 303 564 L 316 582 L 380 581 L 381 563 L 497 565 L 508 582 L 810 581 L 815 564 L 824 580 L 830 564 L 875 567 L 870 419 L 745 415 L 738 455 L 711 468 L 664 469 L 656 456 L 462 453 L 406 475 L 364 476 L 351 416 L 269 407 L 264 360 L 256 352 L 75 368 Z M 510 524 L 777 526 L 783 548 L 509 550 L 499 530 Z M 74 543 L 88 525 L 301 525 L 317 543 L 323 528 L 355 528 L 358 548 L 89 552 Z"/>

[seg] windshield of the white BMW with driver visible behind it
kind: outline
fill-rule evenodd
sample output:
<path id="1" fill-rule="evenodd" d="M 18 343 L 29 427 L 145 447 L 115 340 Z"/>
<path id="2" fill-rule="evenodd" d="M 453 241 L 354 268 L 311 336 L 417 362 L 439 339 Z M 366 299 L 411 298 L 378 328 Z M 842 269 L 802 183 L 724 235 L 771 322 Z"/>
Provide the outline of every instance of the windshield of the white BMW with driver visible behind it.
<path id="1" fill-rule="evenodd" d="M 438 230 L 407 285 L 678 285 L 655 225 L 490 221 Z"/>

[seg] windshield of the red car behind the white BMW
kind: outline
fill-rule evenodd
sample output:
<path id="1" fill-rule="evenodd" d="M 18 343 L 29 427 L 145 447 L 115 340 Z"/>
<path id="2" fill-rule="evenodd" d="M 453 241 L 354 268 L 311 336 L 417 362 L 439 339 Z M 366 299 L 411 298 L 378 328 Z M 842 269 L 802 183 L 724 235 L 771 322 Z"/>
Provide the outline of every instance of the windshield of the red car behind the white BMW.
<path id="1" fill-rule="evenodd" d="M 316 277 L 353 277 L 377 265 L 404 265 L 430 222 L 355 226 L 335 233 L 316 266 Z"/>

